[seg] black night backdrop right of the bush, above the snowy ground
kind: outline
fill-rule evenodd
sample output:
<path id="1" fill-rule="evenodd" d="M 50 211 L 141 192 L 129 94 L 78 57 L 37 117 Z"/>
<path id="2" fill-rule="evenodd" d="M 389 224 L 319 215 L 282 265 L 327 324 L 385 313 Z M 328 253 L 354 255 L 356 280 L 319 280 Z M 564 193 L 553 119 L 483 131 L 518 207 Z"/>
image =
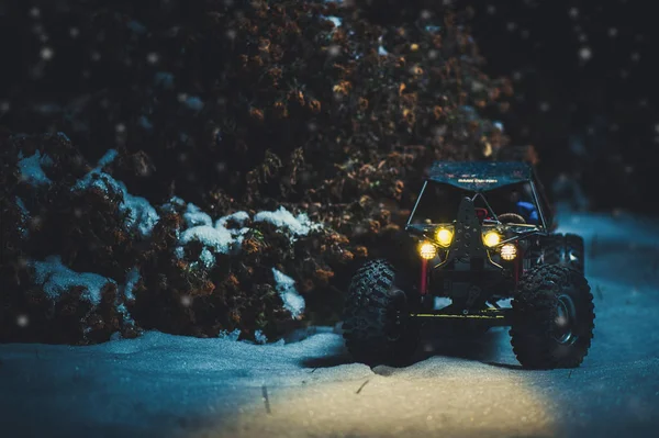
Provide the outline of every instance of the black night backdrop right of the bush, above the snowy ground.
<path id="1" fill-rule="evenodd" d="M 540 169 L 556 186 L 561 175 L 579 181 L 590 198 L 578 202 L 583 206 L 657 212 L 654 8 L 641 0 L 513 0 L 476 8 L 472 32 L 487 70 L 514 80 L 507 133 L 538 148 Z"/>

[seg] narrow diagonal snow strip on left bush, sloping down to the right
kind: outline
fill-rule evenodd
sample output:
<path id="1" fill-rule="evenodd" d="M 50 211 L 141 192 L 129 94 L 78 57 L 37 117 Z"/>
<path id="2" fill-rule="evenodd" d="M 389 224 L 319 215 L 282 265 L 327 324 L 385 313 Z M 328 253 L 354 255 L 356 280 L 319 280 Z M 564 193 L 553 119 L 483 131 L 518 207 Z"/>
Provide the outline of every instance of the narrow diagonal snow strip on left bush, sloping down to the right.
<path id="1" fill-rule="evenodd" d="M 74 190 L 87 190 L 90 187 L 100 189 L 108 193 L 110 188 L 123 194 L 123 201 L 119 205 L 122 212 L 127 212 L 126 225 L 129 228 L 136 228 L 142 237 L 150 235 L 156 223 L 160 220 L 156 209 L 142 196 L 134 196 L 126 190 L 123 182 L 116 181 L 110 175 L 101 169 L 116 158 L 116 150 L 110 149 L 99 160 L 97 167 L 87 173 L 74 186 Z"/>

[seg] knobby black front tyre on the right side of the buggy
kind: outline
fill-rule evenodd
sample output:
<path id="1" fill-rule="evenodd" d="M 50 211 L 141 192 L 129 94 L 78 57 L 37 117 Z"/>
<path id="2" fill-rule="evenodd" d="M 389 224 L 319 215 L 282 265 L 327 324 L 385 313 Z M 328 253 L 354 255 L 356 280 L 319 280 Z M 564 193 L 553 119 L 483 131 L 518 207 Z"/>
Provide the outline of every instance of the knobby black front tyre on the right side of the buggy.
<path id="1" fill-rule="evenodd" d="M 593 295 L 570 267 L 539 266 L 521 281 L 513 300 L 511 344 L 526 368 L 579 367 L 594 329 Z"/>

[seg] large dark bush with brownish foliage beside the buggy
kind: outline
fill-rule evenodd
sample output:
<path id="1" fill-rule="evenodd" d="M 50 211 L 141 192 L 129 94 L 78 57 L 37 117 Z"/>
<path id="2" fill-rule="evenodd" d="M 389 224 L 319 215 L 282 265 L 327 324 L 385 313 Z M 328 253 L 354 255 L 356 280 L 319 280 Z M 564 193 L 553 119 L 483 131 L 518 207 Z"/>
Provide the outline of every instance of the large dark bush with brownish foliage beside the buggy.
<path id="1" fill-rule="evenodd" d="M 481 114 L 507 111 L 512 87 L 481 70 L 462 25 L 470 12 L 440 2 L 425 10 L 428 2 L 420 1 L 414 13 L 381 16 L 366 3 L 43 2 L 38 19 L 14 7 L 9 25 L 35 20 L 40 29 L 22 37 L 34 56 L 41 46 L 42 58 L 16 60 L 14 69 L 32 74 L 16 78 L 0 123 L 14 132 L 66 132 L 77 147 L 54 134 L 3 141 L 10 245 L 0 281 L 24 280 L 3 294 L 2 321 L 14 325 L 16 312 L 33 312 L 21 307 L 34 285 L 16 260 L 53 254 L 118 284 L 138 269 L 135 299 L 125 305 L 144 328 L 276 337 L 300 323 L 284 311 L 272 268 L 297 281 L 309 321 L 335 321 L 356 267 L 395 250 L 433 160 L 510 156 L 507 138 Z M 43 34 L 47 44 L 38 42 Z M 16 180 L 19 150 L 29 156 L 35 147 L 54 161 L 48 189 Z M 104 170 L 160 205 L 148 237 L 125 226 L 120 191 L 70 190 L 91 168 L 87 160 L 111 148 L 119 157 Z M 38 225 L 21 222 L 16 194 L 30 199 Z M 176 254 L 185 206 L 167 204 L 172 195 L 214 218 L 284 206 L 325 226 L 291 243 L 271 224 L 248 223 L 239 252 L 215 254 L 206 269 L 202 244 Z M 29 237 L 18 239 L 13 231 L 25 226 Z M 94 312 L 102 335 L 71 329 L 68 337 L 29 338 L 94 341 L 133 327 Z M 33 321 L 42 324 L 40 317 Z"/>

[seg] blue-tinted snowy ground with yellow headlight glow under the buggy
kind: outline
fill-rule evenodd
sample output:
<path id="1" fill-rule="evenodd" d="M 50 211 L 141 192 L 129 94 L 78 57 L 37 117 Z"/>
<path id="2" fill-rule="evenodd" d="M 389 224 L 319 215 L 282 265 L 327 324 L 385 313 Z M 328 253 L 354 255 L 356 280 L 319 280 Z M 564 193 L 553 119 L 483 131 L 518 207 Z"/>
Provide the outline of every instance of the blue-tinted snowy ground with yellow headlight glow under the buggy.
<path id="1" fill-rule="evenodd" d="M 581 368 L 525 371 L 504 329 L 427 342 L 407 368 L 351 363 L 330 328 L 258 346 L 147 333 L 0 346 L 0 436 L 656 436 L 659 225 L 569 214 L 596 305 Z"/>

